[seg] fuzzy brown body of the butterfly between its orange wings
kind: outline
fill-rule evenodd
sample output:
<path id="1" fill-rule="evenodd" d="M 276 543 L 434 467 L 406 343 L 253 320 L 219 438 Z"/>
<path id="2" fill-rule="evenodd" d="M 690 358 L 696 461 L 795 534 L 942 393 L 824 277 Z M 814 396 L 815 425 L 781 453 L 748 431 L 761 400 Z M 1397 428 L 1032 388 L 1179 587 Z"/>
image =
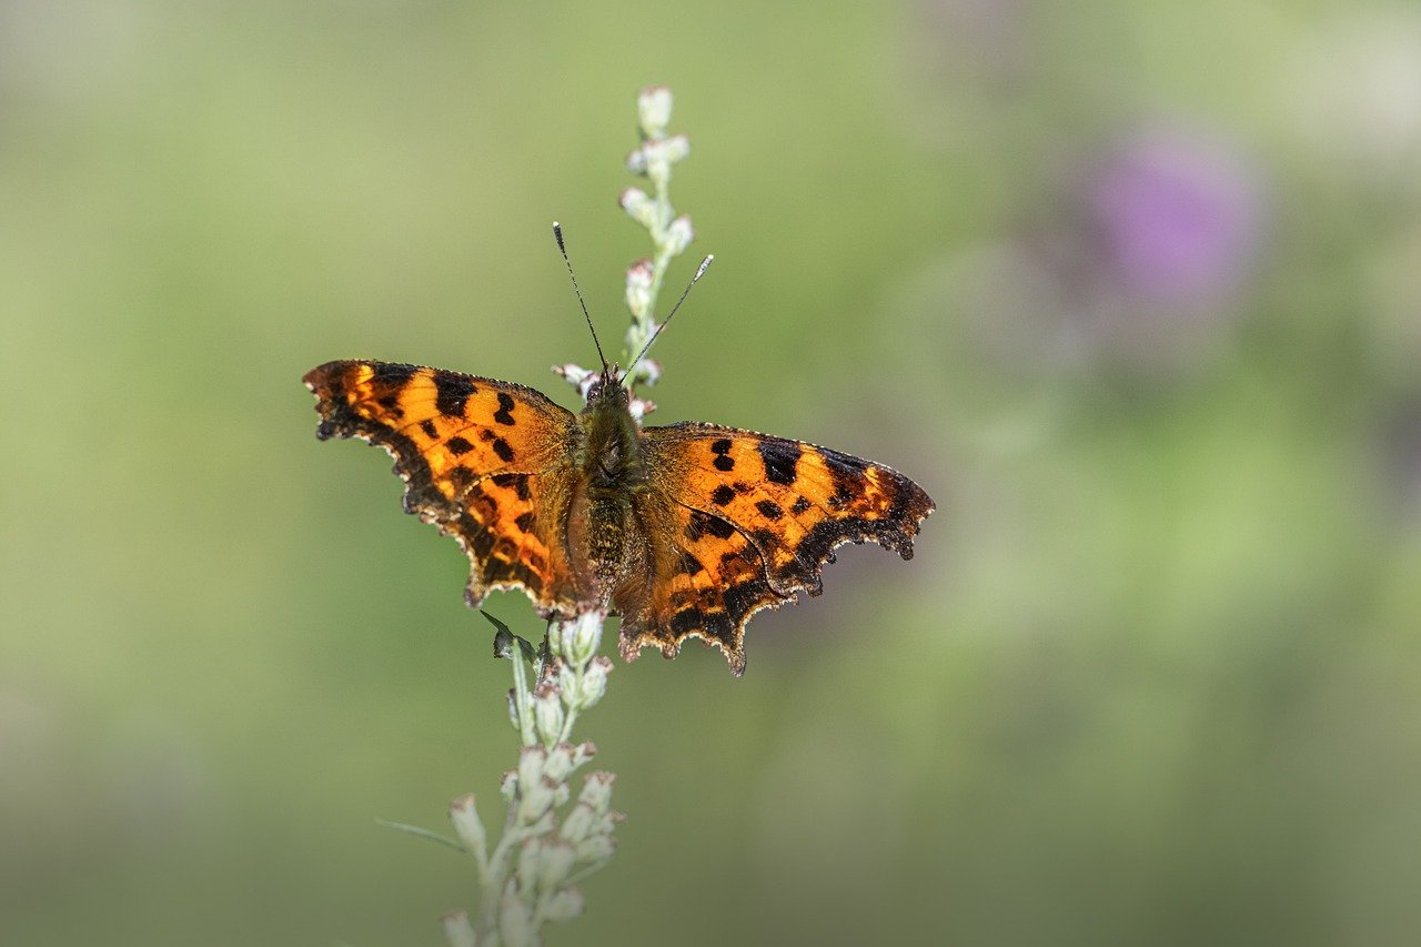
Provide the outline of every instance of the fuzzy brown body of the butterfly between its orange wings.
<path id="1" fill-rule="evenodd" d="M 574 562 L 583 553 L 591 566 L 578 584 L 605 601 L 628 569 L 627 530 L 647 472 L 630 394 L 614 373 L 593 384 L 578 419 L 584 434 L 577 456 L 581 482 L 573 501 L 568 543 Z"/>

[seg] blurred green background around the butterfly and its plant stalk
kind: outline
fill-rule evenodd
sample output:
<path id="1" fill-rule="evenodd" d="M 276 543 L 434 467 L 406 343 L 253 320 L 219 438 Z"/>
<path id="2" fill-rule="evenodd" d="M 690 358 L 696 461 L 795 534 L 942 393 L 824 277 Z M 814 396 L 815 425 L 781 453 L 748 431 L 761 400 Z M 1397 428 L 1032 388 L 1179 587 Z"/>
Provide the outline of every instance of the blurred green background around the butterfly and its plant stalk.
<path id="1" fill-rule="evenodd" d="M 472 907 L 374 818 L 497 813 L 507 667 L 300 377 L 573 407 L 549 222 L 617 338 L 651 82 L 718 257 L 657 421 L 939 512 L 743 680 L 618 663 L 581 735 L 628 819 L 553 943 L 1421 937 L 1415 6 L 4 0 L 0 941 Z"/>

